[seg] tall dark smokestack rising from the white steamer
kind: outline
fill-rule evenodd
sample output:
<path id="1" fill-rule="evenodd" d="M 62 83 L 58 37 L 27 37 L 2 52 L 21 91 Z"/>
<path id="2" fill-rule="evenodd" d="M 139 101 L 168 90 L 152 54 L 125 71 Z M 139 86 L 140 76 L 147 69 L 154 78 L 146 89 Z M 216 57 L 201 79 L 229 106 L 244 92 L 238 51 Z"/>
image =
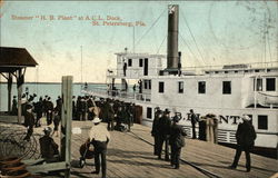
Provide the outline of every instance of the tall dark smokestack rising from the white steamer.
<path id="1" fill-rule="evenodd" d="M 178 71 L 178 33 L 179 33 L 179 6 L 169 6 L 168 12 L 168 39 L 167 39 L 167 71 L 176 73 Z"/>

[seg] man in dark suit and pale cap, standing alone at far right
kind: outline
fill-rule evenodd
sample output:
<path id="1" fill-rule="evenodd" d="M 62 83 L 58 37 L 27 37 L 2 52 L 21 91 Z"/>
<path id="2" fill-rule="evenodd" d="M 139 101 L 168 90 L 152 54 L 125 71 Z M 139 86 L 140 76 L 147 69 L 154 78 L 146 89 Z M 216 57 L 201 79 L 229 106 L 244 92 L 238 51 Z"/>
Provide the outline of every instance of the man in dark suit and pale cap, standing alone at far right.
<path id="1" fill-rule="evenodd" d="M 244 115 L 242 120 L 244 122 L 238 125 L 238 129 L 236 132 L 237 151 L 234 158 L 234 162 L 229 168 L 231 169 L 237 168 L 238 160 L 240 158 L 241 151 L 244 150 L 246 155 L 246 171 L 250 171 L 251 170 L 250 150 L 254 147 L 257 135 L 252 123 L 250 122 L 251 118 L 248 117 L 247 115 Z"/>

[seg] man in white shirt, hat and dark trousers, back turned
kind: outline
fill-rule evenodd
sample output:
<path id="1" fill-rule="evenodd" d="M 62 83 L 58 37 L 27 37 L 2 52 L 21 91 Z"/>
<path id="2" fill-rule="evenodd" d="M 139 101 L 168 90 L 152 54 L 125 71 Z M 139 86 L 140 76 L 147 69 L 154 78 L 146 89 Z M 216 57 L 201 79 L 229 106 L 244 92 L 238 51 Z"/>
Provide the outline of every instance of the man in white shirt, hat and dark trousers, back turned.
<path id="1" fill-rule="evenodd" d="M 101 171 L 102 171 L 102 178 L 106 177 L 106 152 L 107 152 L 107 145 L 110 140 L 110 134 L 107 130 L 107 128 L 102 125 L 99 125 L 101 120 L 96 117 L 92 122 L 95 123 L 93 127 L 91 127 L 89 131 L 89 138 L 91 144 L 95 147 L 95 165 L 96 165 L 96 171 L 92 171 L 92 174 L 99 174 L 100 171 L 100 159 L 101 156 Z"/>

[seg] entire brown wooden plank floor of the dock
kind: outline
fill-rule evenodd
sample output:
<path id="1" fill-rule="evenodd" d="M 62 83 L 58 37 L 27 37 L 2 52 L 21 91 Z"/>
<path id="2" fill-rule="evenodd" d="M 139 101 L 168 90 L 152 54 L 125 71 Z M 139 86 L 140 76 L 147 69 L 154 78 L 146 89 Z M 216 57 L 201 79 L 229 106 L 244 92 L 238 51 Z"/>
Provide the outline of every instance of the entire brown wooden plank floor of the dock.
<path id="1" fill-rule="evenodd" d="M 1 123 L 1 122 L 0 122 Z M 7 123 L 4 123 L 7 125 Z M 106 125 L 106 123 L 101 123 Z M 14 125 L 13 125 L 14 126 Z M 12 128 L 14 128 L 12 126 Z M 43 123 L 43 127 L 46 123 Z M 81 134 L 72 134 L 71 138 L 71 177 L 97 178 L 101 175 L 92 175 L 95 170 L 93 159 L 87 159 L 83 168 L 79 168 L 79 148 L 88 138 L 91 121 L 73 121 L 72 129 L 80 128 Z M 11 128 L 11 129 L 12 129 Z M 36 139 L 42 135 L 42 128 L 34 128 Z M 110 131 L 111 141 L 108 145 L 107 177 L 108 178 L 206 178 L 203 172 L 192 166 L 181 162 L 180 169 L 172 169 L 170 162 L 157 159 L 153 156 L 153 142 L 150 128 L 133 125 L 131 132 Z M 59 137 L 53 137 L 59 142 Z M 146 142 L 146 141 L 148 142 Z M 242 152 L 239 166 L 236 170 L 229 169 L 235 156 L 235 149 L 206 141 L 186 139 L 181 159 L 206 169 L 218 177 L 224 178 L 266 178 L 278 172 L 278 160 L 251 154 L 251 171 L 245 170 L 245 154 Z M 49 176 L 47 176 L 49 177 Z M 50 176 L 53 177 L 53 176 Z"/>

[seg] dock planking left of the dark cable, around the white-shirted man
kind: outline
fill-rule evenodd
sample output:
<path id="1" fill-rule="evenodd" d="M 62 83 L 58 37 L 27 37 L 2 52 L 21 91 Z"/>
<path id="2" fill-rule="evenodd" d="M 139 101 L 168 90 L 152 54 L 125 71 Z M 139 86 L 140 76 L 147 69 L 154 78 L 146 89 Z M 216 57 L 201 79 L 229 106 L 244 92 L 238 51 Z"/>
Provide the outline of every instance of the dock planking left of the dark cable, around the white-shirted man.
<path id="1" fill-rule="evenodd" d="M 80 158 L 78 151 L 80 145 L 88 137 L 88 126 L 90 123 L 73 122 L 73 127 L 86 127 L 81 135 L 72 135 L 72 160 Z M 129 132 L 110 131 L 111 141 L 108 145 L 107 154 L 107 177 L 203 177 L 201 172 L 190 167 L 181 165 L 180 169 L 172 169 L 169 161 L 158 160 L 153 156 L 152 146 L 135 138 Z M 77 177 L 99 177 L 90 175 L 95 169 L 93 159 L 87 159 L 89 165 L 81 168 L 72 168 L 72 176 Z"/>

